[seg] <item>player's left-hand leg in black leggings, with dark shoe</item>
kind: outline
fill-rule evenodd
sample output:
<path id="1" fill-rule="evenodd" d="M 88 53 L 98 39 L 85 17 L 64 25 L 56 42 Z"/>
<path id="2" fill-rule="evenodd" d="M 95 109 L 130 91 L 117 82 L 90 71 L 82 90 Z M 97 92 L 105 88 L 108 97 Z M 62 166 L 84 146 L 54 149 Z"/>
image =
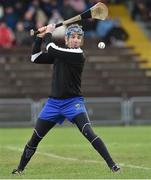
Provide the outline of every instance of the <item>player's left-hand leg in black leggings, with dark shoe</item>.
<path id="1" fill-rule="evenodd" d="M 38 119 L 31 139 L 26 144 L 22 153 L 20 163 L 17 169 L 14 169 L 12 174 L 20 174 L 34 155 L 39 142 L 47 134 L 47 132 L 55 126 L 55 122 Z"/>

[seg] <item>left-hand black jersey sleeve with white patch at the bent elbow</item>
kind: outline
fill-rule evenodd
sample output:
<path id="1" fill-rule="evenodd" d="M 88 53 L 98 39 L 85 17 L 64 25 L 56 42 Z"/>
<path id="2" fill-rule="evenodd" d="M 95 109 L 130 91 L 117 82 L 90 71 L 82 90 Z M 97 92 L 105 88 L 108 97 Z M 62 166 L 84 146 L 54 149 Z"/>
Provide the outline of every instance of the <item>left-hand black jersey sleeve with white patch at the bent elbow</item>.
<path id="1" fill-rule="evenodd" d="M 41 50 L 42 38 L 36 37 L 32 47 L 31 62 L 37 64 L 53 64 L 54 59 Z"/>

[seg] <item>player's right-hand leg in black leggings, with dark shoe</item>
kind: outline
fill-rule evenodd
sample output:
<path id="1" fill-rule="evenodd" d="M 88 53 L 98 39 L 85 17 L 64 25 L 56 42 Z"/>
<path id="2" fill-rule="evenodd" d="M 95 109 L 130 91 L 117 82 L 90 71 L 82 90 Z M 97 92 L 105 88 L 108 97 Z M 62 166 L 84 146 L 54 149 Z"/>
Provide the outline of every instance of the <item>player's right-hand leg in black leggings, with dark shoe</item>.
<path id="1" fill-rule="evenodd" d="M 113 172 L 120 170 L 120 168 L 113 161 L 104 142 L 101 140 L 101 138 L 99 136 L 97 136 L 94 133 L 87 114 L 81 113 L 81 114 L 77 115 L 76 117 L 73 118 L 73 122 L 77 125 L 80 132 L 88 139 L 88 141 L 92 144 L 92 146 L 103 157 L 103 159 L 106 161 L 109 168 Z"/>

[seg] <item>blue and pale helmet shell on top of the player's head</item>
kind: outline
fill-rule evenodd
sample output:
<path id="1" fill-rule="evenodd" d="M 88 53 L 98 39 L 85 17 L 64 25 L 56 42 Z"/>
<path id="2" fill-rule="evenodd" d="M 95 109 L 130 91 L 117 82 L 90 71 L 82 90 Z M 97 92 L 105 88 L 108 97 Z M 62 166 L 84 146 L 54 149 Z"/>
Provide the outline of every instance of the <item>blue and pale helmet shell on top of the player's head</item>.
<path id="1" fill-rule="evenodd" d="M 73 33 L 77 33 L 80 36 L 84 36 L 83 30 L 78 24 L 72 24 L 69 27 L 67 27 L 65 36 L 69 38 Z"/>

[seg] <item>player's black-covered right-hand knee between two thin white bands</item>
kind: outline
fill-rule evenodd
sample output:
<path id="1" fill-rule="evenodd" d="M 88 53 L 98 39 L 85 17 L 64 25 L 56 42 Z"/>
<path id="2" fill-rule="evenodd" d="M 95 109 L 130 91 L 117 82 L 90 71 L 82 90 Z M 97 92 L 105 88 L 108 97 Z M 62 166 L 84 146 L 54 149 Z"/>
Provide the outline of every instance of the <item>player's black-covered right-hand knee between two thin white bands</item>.
<path id="1" fill-rule="evenodd" d="M 90 124 L 85 124 L 81 132 L 90 142 L 97 137 L 96 134 L 93 132 Z"/>

